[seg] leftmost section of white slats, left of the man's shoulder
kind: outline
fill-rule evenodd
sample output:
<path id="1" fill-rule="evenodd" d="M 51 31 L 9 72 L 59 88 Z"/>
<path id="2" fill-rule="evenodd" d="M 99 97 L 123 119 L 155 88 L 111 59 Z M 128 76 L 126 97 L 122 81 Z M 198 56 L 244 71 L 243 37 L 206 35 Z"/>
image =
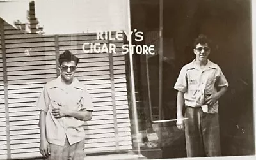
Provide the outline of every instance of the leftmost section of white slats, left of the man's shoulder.
<path id="1" fill-rule="evenodd" d="M 38 142 L 15 144 L 13 140 L 39 140 L 39 110 L 35 107 L 35 101 L 44 84 L 56 78 L 54 45 L 53 37 L 6 40 L 12 157 L 15 153 L 22 153 L 19 156 L 26 157 L 25 154 L 31 149 L 35 153 L 39 151 Z"/>

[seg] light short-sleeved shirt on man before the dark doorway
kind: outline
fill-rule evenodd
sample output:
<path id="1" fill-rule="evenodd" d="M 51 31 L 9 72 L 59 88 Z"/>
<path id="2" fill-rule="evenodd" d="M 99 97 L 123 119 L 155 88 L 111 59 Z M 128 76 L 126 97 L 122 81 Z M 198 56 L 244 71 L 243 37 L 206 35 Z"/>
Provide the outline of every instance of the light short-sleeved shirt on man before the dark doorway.
<path id="1" fill-rule="evenodd" d="M 207 60 L 204 69 L 195 64 L 195 59 L 183 66 L 174 89 L 184 92 L 186 106 L 200 107 L 205 104 L 205 95 L 215 94 L 217 87 L 228 87 L 220 67 Z M 209 106 L 208 113 L 218 113 L 218 101 Z"/>

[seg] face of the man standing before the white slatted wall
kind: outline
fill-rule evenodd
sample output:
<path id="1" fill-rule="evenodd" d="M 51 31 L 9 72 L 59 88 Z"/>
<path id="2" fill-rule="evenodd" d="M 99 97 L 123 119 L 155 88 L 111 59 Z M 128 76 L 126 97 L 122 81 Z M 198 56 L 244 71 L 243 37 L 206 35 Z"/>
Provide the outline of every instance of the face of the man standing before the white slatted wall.
<path id="1" fill-rule="evenodd" d="M 72 82 L 76 72 L 76 62 L 62 62 L 60 66 L 61 77 L 67 82 Z"/>

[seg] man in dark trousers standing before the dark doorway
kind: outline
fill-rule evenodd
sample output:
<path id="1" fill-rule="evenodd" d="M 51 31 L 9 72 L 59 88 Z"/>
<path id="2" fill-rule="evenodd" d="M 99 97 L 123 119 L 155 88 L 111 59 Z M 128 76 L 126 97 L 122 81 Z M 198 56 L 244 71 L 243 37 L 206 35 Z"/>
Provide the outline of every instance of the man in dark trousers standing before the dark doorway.
<path id="1" fill-rule="evenodd" d="M 228 82 L 220 67 L 208 59 L 207 37 L 198 36 L 194 47 L 195 59 L 183 66 L 174 86 L 177 128 L 185 128 L 187 157 L 221 156 L 218 99 L 227 91 Z"/>

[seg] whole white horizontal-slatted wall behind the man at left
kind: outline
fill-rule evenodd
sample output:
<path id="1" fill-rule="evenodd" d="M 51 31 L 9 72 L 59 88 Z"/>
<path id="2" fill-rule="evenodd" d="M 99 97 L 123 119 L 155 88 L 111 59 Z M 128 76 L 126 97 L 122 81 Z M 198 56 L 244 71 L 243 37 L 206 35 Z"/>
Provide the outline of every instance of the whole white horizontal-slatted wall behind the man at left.
<path id="1" fill-rule="evenodd" d="M 40 156 L 38 154 L 40 108 L 35 107 L 35 101 L 45 83 L 56 78 L 54 36 L 22 35 L 14 32 L 11 34 L 10 30 L 8 32 L 6 60 L 11 154 L 12 157 Z M 95 36 L 95 34 L 77 34 L 58 37 L 60 54 L 63 50 L 70 49 L 80 58 L 76 76 L 86 85 L 95 105 L 93 119 L 84 122 L 86 152 L 116 150 L 115 127 L 118 127 L 120 149 L 131 149 L 125 62 L 124 55 L 120 54 L 122 41 L 112 42 L 115 43 L 115 51 L 118 53 L 113 54 L 115 99 L 112 99 L 109 54 L 94 52 L 85 54 L 82 50 L 85 42 L 107 43 L 106 40 L 95 40 Z M 86 50 L 90 49 L 89 47 L 86 45 Z M 4 97 L 0 96 L 1 98 Z M 117 126 L 114 125 L 113 100 L 116 103 Z M 1 113 L 0 110 L 0 120 L 3 118 Z M 1 133 L 3 127 L 4 123 L 0 122 L 0 136 L 4 135 Z"/>

